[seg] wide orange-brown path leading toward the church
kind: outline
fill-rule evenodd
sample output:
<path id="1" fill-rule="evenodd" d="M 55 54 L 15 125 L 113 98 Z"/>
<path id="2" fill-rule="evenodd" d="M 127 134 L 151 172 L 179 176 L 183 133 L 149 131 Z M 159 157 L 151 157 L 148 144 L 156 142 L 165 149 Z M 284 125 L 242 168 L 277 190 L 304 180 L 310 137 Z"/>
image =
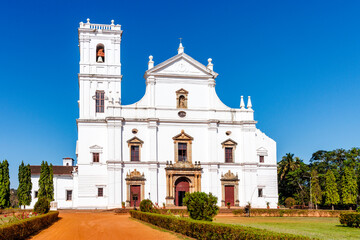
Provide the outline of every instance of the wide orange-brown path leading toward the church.
<path id="1" fill-rule="evenodd" d="M 56 239 L 178 239 L 130 219 L 130 215 L 113 212 L 60 212 L 59 221 L 33 236 L 34 240 Z"/>

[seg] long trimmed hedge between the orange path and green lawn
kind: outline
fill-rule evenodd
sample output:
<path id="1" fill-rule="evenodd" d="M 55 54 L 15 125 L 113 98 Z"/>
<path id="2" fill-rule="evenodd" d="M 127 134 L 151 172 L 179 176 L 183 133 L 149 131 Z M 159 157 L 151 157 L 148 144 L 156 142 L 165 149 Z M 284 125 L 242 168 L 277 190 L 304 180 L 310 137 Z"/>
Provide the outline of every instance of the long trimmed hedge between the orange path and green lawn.
<path id="1" fill-rule="evenodd" d="M 130 215 L 141 221 L 196 239 L 310 239 L 305 236 L 270 232 L 252 227 L 212 223 L 134 210 L 130 211 Z"/>

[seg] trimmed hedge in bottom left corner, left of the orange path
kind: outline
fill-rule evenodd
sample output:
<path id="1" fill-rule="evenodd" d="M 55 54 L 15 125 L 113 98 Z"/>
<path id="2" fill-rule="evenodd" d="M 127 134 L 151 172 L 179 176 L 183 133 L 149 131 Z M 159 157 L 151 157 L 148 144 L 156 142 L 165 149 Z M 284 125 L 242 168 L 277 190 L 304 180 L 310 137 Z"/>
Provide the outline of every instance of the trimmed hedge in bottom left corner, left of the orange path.
<path id="1" fill-rule="evenodd" d="M 59 212 L 49 212 L 21 221 L 0 225 L 0 239 L 25 239 L 51 225 L 58 219 L 58 216 Z"/>

